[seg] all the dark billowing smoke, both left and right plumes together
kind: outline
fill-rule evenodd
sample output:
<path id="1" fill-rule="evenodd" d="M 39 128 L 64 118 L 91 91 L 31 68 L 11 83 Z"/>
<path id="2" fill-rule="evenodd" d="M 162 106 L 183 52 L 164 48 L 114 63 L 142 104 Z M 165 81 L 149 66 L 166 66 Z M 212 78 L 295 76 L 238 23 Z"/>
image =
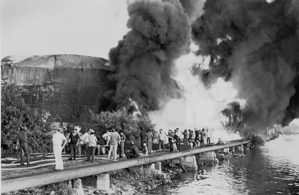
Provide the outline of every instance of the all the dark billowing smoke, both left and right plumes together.
<path id="1" fill-rule="evenodd" d="M 295 0 L 132 1 L 131 30 L 109 53 L 117 89 L 106 97 L 127 109 L 131 98 L 142 113 L 161 109 L 174 61 L 194 41 L 210 63 L 192 73 L 206 88 L 230 81 L 245 100 L 222 110 L 228 129 L 288 125 L 299 118 L 298 11 Z"/>

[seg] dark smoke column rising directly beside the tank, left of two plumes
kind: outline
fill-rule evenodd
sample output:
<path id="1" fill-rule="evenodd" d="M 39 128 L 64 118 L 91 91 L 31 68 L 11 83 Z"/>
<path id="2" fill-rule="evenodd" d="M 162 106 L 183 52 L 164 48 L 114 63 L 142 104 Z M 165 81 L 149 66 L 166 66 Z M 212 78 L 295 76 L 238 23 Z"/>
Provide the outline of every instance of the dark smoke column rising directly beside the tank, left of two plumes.
<path id="1" fill-rule="evenodd" d="M 105 95 L 129 109 L 130 98 L 142 113 L 161 108 L 173 62 L 187 51 L 191 27 L 179 0 L 143 0 L 128 5 L 131 30 L 109 52 L 116 90 Z"/>

